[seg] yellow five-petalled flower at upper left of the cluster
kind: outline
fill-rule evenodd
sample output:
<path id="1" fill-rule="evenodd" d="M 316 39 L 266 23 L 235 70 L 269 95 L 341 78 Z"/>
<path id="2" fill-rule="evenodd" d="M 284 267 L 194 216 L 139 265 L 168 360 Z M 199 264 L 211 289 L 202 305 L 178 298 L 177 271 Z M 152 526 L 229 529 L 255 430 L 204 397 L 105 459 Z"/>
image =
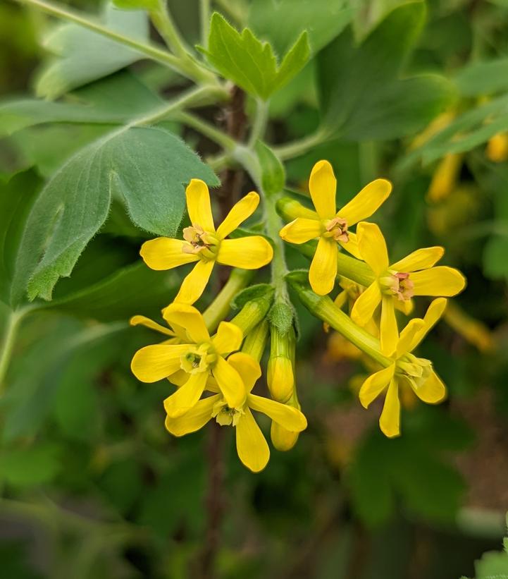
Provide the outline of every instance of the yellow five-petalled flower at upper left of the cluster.
<path id="1" fill-rule="evenodd" d="M 175 301 L 192 304 L 202 295 L 215 262 L 242 269 L 259 269 L 271 261 L 273 250 L 261 236 L 225 239 L 256 210 L 259 195 L 254 191 L 233 206 L 217 229 L 213 224 L 206 183 L 192 179 L 185 195 L 192 226 L 183 230 L 183 240 L 152 239 L 143 243 L 140 254 L 151 269 L 172 269 L 197 262 L 183 280 L 175 298 Z"/>

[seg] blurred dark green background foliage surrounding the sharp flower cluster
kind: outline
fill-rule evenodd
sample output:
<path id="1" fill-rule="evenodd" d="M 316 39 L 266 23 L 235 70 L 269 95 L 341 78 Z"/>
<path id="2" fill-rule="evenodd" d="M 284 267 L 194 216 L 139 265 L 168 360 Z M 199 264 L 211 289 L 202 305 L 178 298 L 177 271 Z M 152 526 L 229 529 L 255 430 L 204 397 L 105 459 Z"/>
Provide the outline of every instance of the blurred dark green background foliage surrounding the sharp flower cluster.
<path id="1" fill-rule="evenodd" d="M 197 2 L 170 4 L 185 37 L 196 42 Z M 216 8 L 233 18 L 246 4 L 222 0 Z M 359 0 L 359 25 L 375 22 L 395 4 Z M 98 8 L 87 0 L 75 6 Z M 326 10 L 326 2 L 318 9 Z M 41 13 L 0 4 L 3 97 L 30 91 L 47 56 L 39 41 L 49 26 Z M 426 28 L 411 54 L 413 70 L 452 79 L 471 61 L 503 57 L 508 57 L 506 0 L 428 2 Z M 299 138 L 316 127 L 313 66 L 273 99 L 271 142 Z M 152 87 L 167 85 L 171 92 L 179 86 L 154 65 L 134 68 Z M 453 112 L 474 108 L 488 96 L 462 97 Z M 195 133 L 173 128 L 202 154 L 211 151 Z M 101 130 L 85 124 L 21 130 L 0 141 L 0 173 L 27 169 L 16 177 L 18 185 L 36 188 Z M 305 188 L 312 164 L 329 159 L 340 200 L 347 200 L 371 178 L 390 176 L 413 137 L 328 142 L 287 164 L 288 183 Z M 449 400 L 438 408 L 405 401 L 403 436 L 385 439 L 378 432 L 379 408 L 366 411 L 355 398 L 365 372 L 356 353 L 324 334 L 320 322 L 301 309 L 297 376 L 309 427 L 294 449 L 273 451 L 259 475 L 237 460 L 228 429 L 221 578 L 487 577 L 486 567 L 479 563 L 475 570 L 474 561 L 484 551 L 501 549 L 508 508 L 503 138 L 424 169 L 414 166 L 381 212 L 392 255 L 444 245 L 447 262 L 468 278 L 468 288 L 423 346 L 450 389 Z M 205 525 L 207 432 L 169 436 L 161 404 L 166 384 L 140 384 L 129 369 L 132 354 L 153 336 L 129 328 L 128 318 L 157 315 L 178 278 L 152 277 L 140 269 L 135 279 L 125 274 L 112 282 L 107 300 L 97 300 L 93 292 L 73 295 L 81 279 L 99 282 L 135 262 L 142 240 L 113 209 L 73 276 L 58 284 L 55 297 L 62 303 L 34 313 L 20 329 L 0 398 L 2 579 L 196 576 L 193 563 Z M 294 267 L 305 264 L 292 251 L 289 259 Z M 142 271 L 146 277 L 140 278 Z M 153 284 L 159 285 L 147 293 Z M 73 295 L 72 307 L 66 295 Z M 507 577 L 506 563 L 496 557 L 490 556 L 488 569 Z"/>

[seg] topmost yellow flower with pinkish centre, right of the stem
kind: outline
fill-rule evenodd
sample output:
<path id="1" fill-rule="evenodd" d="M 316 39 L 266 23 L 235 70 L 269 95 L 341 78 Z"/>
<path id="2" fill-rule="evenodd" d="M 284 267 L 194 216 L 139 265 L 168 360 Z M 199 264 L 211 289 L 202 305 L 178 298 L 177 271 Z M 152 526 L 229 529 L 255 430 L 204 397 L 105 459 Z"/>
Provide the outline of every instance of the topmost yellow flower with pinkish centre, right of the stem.
<path id="1" fill-rule="evenodd" d="M 316 212 L 302 207 L 300 215 L 280 230 L 280 237 L 289 243 L 305 243 L 319 238 L 309 269 L 309 282 L 315 293 L 326 295 L 333 289 L 337 275 L 339 245 L 359 257 L 357 236 L 349 227 L 373 212 L 390 195 L 392 184 L 385 179 L 368 183 L 347 205 L 335 208 L 337 181 L 328 161 L 318 161 L 311 172 L 309 191 Z"/>

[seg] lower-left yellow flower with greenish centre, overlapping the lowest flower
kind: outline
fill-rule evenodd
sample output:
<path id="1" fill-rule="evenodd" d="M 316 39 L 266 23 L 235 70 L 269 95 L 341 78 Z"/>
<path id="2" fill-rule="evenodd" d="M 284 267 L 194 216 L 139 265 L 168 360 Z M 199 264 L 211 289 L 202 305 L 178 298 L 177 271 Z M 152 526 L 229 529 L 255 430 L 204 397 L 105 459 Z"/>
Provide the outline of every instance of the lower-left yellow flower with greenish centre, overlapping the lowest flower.
<path id="1" fill-rule="evenodd" d="M 183 303 L 168 305 L 163 310 L 163 317 L 175 334 L 180 334 L 180 343 L 145 346 L 135 353 L 130 367 L 141 382 L 168 378 L 180 386 L 164 401 L 166 413 L 176 418 L 193 408 L 209 377 L 216 379 L 218 389 L 232 408 L 241 406 L 247 394 L 244 383 L 235 367 L 225 360 L 225 355 L 240 348 L 242 330 L 230 322 L 221 322 L 211 338 L 202 315 L 192 305 Z M 151 324 L 158 326 L 151 326 L 154 329 L 168 334 L 159 324 Z"/>

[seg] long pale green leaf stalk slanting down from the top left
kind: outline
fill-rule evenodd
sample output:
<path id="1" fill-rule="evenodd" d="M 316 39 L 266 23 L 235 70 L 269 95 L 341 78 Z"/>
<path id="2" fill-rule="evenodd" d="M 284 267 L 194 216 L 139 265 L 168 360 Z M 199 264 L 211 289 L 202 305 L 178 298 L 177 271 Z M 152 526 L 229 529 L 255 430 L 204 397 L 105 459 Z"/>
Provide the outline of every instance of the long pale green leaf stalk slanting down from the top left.
<path id="1" fill-rule="evenodd" d="M 51 2 L 47 2 L 45 0 L 18 1 L 20 4 L 35 6 L 36 8 L 39 8 L 39 10 L 42 10 L 47 14 L 51 14 L 51 16 L 56 16 L 62 20 L 67 20 L 68 22 L 78 24 L 83 28 L 97 32 L 98 34 L 107 38 L 111 38 L 116 42 L 120 42 L 120 44 L 124 44 L 125 46 L 135 49 L 141 54 L 144 54 L 144 56 L 147 56 L 149 59 L 173 68 L 174 71 L 187 78 L 190 78 L 190 80 L 194 80 L 197 83 L 217 83 L 215 76 L 213 76 L 205 68 L 202 68 L 202 66 L 199 66 L 196 61 L 190 62 L 187 59 L 182 60 L 167 50 L 163 50 L 154 46 L 153 44 L 147 44 L 146 42 L 125 36 L 120 32 L 116 32 L 115 30 L 111 30 L 111 28 L 107 28 L 106 26 L 101 25 L 101 23 L 94 22 L 94 20 L 89 20 L 85 16 L 81 16 L 78 13 L 66 10 L 65 8 L 60 8 L 59 6 L 55 6 L 54 4 L 51 4 Z"/>

